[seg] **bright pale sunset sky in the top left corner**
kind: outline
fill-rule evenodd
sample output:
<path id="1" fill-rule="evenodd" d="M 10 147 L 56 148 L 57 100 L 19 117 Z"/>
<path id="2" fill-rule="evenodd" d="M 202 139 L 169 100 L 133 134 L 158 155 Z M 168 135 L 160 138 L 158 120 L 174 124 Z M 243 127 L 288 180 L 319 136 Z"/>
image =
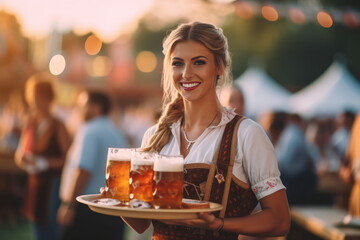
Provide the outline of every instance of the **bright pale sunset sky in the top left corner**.
<path id="1" fill-rule="evenodd" d="M 153 0 L 0 0 L 0 10 L 17 16 L 29 36 L 41 36 L 52 29 L 93 30 L 105 38 L 144 14 Z"/>

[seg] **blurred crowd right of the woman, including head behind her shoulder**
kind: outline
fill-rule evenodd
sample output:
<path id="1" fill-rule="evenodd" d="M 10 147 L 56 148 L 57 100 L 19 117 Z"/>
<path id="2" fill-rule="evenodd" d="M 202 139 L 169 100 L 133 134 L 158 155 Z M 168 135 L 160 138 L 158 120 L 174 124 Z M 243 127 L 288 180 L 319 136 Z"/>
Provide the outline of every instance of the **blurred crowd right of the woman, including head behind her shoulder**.
<path id="1" fill-rule="evenodd" d="M 224 106 L 235 108 L 238 114 L 246 113 L 246 99 L 237 85 L 228 86 L 221 94 Z M 284 111 L 256 116 L 274 145 L 290 206 L 335 205 L 360 216 L 358 210 L 351 210 L 354 204 L 357 209 L 360 206 L 360 201 L 353 197 L 360 162 L 356 116 L 359 119 L 360 113 L 348 109 L 337 116 L 311 119 Z"/>

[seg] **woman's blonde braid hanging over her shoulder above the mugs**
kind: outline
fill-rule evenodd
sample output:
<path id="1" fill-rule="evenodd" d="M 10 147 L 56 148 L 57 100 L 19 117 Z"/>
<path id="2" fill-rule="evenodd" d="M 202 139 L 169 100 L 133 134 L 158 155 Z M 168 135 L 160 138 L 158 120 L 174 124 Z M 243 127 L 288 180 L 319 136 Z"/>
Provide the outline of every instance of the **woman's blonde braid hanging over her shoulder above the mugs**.
<path id="1" fill-rule="evenodd" d="M 167 104 L 159 119 L 158 127 L 154 135 L 151 137 L 148 146 L 143 150 L 160 152 L 169 141 L 171 135 L 170 125 L 178 121 L 183 116 L 183 112 L 184 103 L 181 96 L 178 96 L 173 102 Z"/>

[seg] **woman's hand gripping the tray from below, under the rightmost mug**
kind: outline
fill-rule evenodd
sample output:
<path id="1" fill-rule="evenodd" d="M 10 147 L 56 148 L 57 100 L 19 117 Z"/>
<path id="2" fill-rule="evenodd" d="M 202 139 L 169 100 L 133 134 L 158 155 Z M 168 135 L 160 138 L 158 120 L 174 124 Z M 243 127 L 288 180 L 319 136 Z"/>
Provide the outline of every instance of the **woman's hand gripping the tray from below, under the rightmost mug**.
<path id="1" fill-rule="evenodd" d="M 205 228 L 209 230 L 216 230 L 222 226 L 222 220 L 215 217 L 211 213 L 198 213 L 197 219 L 186 220 L 161 220 L 161 222 L 169 225 L 182 225 L 188 227 Z"/>

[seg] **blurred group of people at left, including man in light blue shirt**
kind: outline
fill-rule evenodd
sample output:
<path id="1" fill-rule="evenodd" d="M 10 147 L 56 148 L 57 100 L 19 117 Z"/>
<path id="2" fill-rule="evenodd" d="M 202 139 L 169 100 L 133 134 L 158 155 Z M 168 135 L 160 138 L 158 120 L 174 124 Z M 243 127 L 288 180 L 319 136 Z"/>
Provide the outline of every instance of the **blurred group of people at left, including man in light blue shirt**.
<path id="1" fill-rule="evenodd" d="M 123 239 L 121 218 L 95 214 L 75 198 L 99 193 L 108 147 L 140 147 L 158 105 L 121 108 L 107 91 L 79 89 L 64 107 L 56 81 L 35 74 L 0 107 L 0 165 L 13 165 L 0 169 L 0 224 L 25 218 L 34 239 Z"/>

